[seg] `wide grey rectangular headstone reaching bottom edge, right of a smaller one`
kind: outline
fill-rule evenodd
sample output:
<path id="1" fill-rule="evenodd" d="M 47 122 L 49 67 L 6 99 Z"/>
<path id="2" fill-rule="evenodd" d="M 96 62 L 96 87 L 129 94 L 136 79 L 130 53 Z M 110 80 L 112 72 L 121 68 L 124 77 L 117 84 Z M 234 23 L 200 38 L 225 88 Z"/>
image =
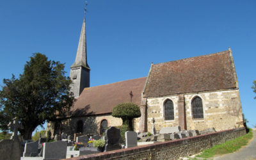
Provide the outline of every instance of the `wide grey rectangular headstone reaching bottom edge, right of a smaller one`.
<path id="1" fill-rule="evenodd" d="M 54 141 L 51 143 L 44 143 L 43 159 L 65 159 L 66 155 L 66 141 Z"/>

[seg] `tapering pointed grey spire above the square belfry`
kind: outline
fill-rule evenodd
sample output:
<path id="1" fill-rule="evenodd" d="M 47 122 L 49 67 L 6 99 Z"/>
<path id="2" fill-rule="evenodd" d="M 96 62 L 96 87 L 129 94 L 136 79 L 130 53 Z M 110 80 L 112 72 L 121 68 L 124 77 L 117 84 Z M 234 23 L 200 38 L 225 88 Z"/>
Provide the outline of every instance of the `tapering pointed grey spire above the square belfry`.
<path id="1" fill-rule="evenodd" d="M 81 29 L 79 44 L 77 47 L 76 60 L 70 68 L 81 66 L 83 66 L 84 68 L 88 68 L 90 70 L 90 67 L 87 64 L 85 17 Z"/>

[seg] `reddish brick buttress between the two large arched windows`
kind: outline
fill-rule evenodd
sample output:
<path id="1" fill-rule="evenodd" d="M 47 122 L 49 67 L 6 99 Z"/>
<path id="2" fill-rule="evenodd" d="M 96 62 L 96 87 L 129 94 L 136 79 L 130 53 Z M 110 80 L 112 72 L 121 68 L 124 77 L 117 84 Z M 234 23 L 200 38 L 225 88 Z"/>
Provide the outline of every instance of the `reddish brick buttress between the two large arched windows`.
<path id="1" fill-rule="evenodd" d="M 179 126 L 180 126 L 180 129 L 186 130 L 187 129 L 187 124 L 186 124 L 186 109 L 185 109 L 184 94 L 179 95 L 178 110 L 179 110 Z"/>

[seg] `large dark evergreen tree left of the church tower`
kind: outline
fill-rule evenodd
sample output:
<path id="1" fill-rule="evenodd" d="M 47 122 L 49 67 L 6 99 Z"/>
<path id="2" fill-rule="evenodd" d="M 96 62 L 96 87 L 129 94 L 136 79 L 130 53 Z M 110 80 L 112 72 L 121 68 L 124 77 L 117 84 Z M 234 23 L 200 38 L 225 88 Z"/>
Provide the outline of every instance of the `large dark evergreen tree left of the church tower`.
<path id="1" fill-rule="evenodd" d="M 65 77 L 64 64 L 47 60 L 41 53 L 35 53 L 26 62 L 19 79 L 4 79 L 0 90 L 0 128 L 7 130 L 7 124 L 17 117 L 23 140 L 30 140 L 38 125 L 54 121 L 65 114 L 73 104 L 70 92 L 72 81 Z"/>

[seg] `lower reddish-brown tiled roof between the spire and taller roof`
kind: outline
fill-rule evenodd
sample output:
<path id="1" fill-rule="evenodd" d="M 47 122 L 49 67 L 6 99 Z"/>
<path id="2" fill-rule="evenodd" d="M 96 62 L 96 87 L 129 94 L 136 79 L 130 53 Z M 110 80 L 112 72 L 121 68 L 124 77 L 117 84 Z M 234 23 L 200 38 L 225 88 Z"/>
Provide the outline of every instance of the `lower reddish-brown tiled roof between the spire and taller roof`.
<path id="1" fill-rule="evenodd" d="M 131 79 L 102 86 L 84 88 L 70 110 L 69 116 L 100 115 L 111 113 L 116 104 L 132 102 L 140 105 L 141 92 L 147 77 Z"/>

